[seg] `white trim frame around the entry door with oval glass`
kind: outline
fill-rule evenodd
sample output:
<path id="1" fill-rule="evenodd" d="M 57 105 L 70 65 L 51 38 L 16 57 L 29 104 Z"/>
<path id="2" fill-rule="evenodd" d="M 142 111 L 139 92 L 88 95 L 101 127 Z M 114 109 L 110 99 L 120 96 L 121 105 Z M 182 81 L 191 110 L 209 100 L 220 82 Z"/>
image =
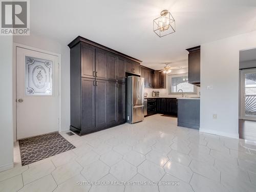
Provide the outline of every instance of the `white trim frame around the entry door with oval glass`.
<path id="1" fill-rule="evenodd" d="M 45 54 L 50 54 L 58 57 L 58 132 L 61 132 L 61 54 L 54 53 L 42 49 L 38 49 L 35 47 L 30 47 L 22 44 L 18 44 L 13 42 L 13 140 L 17 141 L 17 102 L 16 102 L 16 49 L 23 48 L 31 51 L 37 51 Z"/>

